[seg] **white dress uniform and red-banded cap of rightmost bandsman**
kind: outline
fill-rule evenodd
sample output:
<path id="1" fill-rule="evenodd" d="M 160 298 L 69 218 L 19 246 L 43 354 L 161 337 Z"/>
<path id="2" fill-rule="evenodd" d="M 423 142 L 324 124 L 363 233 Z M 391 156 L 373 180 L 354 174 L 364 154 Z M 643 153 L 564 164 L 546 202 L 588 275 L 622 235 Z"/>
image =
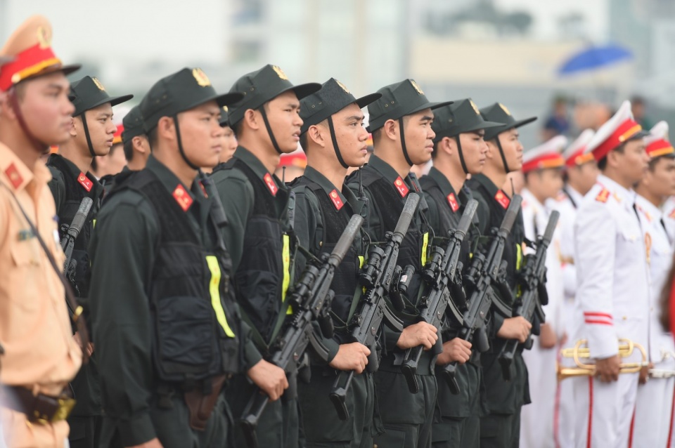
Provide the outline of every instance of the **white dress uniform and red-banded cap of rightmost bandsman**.
<path id="1" fill-rule="evenodd" d="M 657 123 L 645 138 L 647 153 L 652 159 L 675 157 L 667 141 L 668 124 Z M 669 235 L 662 210 L 638 195 L 636 210 L 640 216 L 647 261 L 649 263 L 651 294 L 649 308 L 649 360 L 654 364 L 653 378 L 638 386 L 638 400 L 633 419 L 634 446 L 669 447 L 672 445 L 673 406 L 675 397 L 675 342 L 659 322 L 660 298 L 673 262 L 674 239 Z"/>

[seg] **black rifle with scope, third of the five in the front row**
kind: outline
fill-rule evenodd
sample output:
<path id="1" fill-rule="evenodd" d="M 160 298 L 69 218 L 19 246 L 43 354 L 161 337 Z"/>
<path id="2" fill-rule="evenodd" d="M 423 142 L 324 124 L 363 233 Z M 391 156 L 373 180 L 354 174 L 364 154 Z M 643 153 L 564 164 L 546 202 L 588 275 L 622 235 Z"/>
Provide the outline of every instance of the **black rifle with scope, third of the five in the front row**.
<path id="1" fill-rule="evenodd" d="M 445 320 L 447 308 L 450 308 L 459 324 L 464 322 L 463 315 L 455 302 L 461 300 L 461 297 L 456 297 L 457 294 L 451 294 L 451 289 L 454 292 L 462 287 L 461 275 L 456 275 L 456 272 L 457 270 L 461 270 L 459 256 L 462 242 L 473 221 L 477 207 L 478 202 L 475 199 L 471 199 L 466 209 L 464 209 L 456 230 L 452 232 L 448 245 L 445 249 L 435 246 L 432 249 L 429 261 L 422 271 L 422 278 L 429 289 L 420 298 L 418 308 L 421 308 L 422 311 L 420 312 L 419 319 L 421 322 L 432 324 L 438 329 Z M 420 391 L 420 385 L 417 381 L 417 366 L 420 362 L 423 348 L 423 345 L 418 345 L 406 350 L 403 365 L 401 366 L 401 371 L 406 377 L 408 389 L 411 393 L 418 393 Z M 443 340 L 440 336 L 440 331 L 432 350 L 434 350 L 435 355 L 443 353 Z"/>

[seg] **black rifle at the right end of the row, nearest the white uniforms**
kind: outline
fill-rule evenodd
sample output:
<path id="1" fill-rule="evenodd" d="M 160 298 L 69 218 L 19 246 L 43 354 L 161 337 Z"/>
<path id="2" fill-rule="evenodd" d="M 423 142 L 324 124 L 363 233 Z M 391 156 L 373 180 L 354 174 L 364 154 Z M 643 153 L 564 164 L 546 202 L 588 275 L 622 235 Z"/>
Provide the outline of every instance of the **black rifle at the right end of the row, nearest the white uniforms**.
<path id="1" fill-rule="evenodd" d="M 532 334 L 539 334 L 539 325 L 544 323 L 546 315 L 541 305 L 548 303 L 548 294 L 546 294 L 546 249 L 551 244 L 555 225 L 558 225 L 560 213 L 553 211 L 548 218 L 548 224 L 544 235 L 536 239 L 536 251 L 532 256 L 527 257 L 525 267 L 520 275 L 520 305 L 515 309 L 514 316 L 525 317 L 532 324 Z M 527 338 L 523 346 L 528 350 L 532 348 L 532 337 Z M 501 373 L 504 379 L 511 379 L 510 367 L 513 364 L 513 357 L 518 350 L 518 341 L 510 339 L 499 353 L 499 364 L 501 364 Z"/>

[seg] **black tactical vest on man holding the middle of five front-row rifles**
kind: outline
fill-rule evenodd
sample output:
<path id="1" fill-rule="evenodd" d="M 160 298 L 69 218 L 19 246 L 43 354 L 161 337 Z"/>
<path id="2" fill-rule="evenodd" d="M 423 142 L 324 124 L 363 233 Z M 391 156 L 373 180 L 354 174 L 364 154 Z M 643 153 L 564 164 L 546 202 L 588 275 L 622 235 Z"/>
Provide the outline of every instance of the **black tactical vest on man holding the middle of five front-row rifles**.
<path id="1" fill-rule="evenodd" d="M 364 189 L 368 190 L 373 197 L 374 204 L 372 204 L 370 210 L 378 213 L 383 235 L 385 230 L 393 232 L 401 216 L 401 211 L 403 211 L 406 202 L 405 198 L 402 198 L 394 185 L 375 169 L 364 166 L 361 172 Z M 352 173 L 352 176 L 356 176 L 357 174 Z M 355 182 L 356 178 L 352 177 L 349 180 Z M 421 192 L 419 194 L 422 195 Z M 418 210 L 413 216 L 408 232 L 399 246 L 397 265 L 401 266 L 401 268 L 405 268 L 407 265 L 415 268 L 406 292 L 406 309 L 404 313 L 397 313 L 406 323 L 412 322 L 411 315 L 419 314 L 416 305 L 420 285 L 422 284 L 421 268 L 425 264 L 426 252 L 430 243 L 430 228 L 423 216 L 423 209 L 425 208 L 425 202 L 422 197 L 420 198 Z"/>

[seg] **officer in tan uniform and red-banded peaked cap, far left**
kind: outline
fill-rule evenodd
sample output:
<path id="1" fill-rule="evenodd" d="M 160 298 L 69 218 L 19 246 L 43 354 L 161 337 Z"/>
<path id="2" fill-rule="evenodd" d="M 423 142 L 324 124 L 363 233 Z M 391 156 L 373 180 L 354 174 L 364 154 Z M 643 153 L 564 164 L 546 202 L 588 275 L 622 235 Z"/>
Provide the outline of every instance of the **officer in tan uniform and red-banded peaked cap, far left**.
<path id="1" fill-rule="evenodd" d="M 53 53 L 39 15 L 9 37 L 0 60 L 0 424 L 10 447 L 60 448 L 82 352 L 63 304 L 64 257 L 40 155 L 69 138 L 65 74 L 79 66 Z"/>

